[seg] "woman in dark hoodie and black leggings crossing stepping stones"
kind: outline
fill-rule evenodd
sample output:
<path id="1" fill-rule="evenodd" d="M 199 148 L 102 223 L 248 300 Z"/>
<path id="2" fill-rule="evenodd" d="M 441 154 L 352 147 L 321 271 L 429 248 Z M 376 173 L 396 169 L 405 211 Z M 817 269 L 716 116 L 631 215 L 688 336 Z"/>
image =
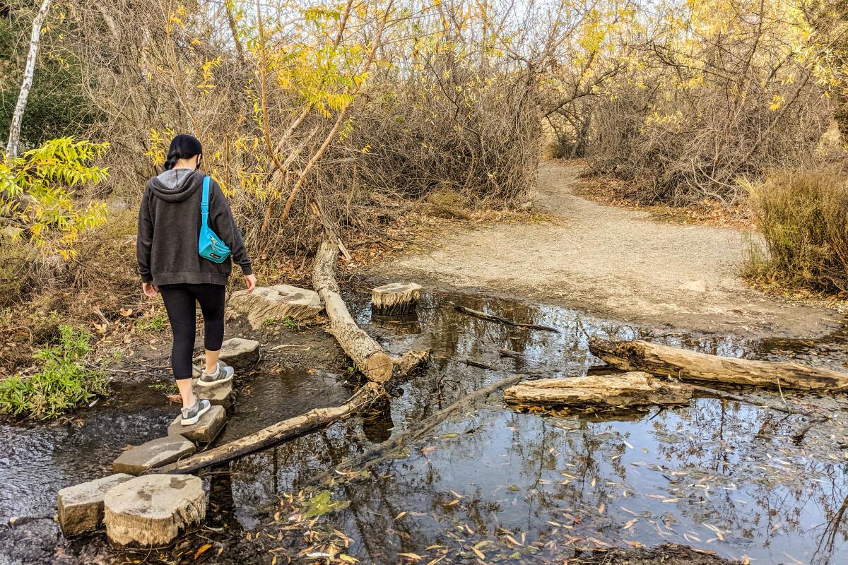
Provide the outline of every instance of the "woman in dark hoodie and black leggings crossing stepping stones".
<path id="1" fill-rule="evenodd" d="M 182 398 L 182 425 L 191 425 L 209 410 L 208 400 L 198 400 L 192 391 L 195 302 L 204 315 L 206 366 L 198 385 L 212 386 L 232 379 L 233 369 L 218 361 L 224 340 L 226 283 L 232 271 L 231 258 L 213 263 L 198 254 L 198 235 L 203 198 L 203 173 L 199 173 L 203 147 L 193 136 L 176 136 L 170 142 L 165 172 L 148 181 L 138 212 L 138 274 L 142 291 L 153 298 L 162 294 L 174 333 L 171 367 Z M 253 292 L 256 277 L 244 251 L 239 232 L 224 193 L 209 180 L 209 227 L 230 247 Z"/>

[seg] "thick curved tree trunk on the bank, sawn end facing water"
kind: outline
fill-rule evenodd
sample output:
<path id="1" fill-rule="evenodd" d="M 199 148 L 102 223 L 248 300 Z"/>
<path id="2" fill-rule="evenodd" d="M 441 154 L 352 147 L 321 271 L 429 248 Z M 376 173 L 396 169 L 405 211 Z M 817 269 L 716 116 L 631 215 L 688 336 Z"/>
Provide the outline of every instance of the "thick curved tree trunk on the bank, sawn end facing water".
<path id="1" fill-rule="evenodd" d="M 329 331 L 365 377 L 377 383 L 384 383 L 392 377 L 392 358 L 351 318 L 336 284 L 334 272 L 337 258 L 338 246 L 335 243 L 321 243 L 312 275 L 315 292 L 321 296 L 326 316 L 330 319 Z"/>

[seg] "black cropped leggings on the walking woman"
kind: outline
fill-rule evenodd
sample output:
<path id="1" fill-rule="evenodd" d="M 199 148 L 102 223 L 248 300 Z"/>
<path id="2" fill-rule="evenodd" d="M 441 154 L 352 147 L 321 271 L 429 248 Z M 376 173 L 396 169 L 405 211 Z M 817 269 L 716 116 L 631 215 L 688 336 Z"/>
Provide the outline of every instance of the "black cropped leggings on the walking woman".
<path id="1" fill-rule="evenodd" d="M 192 378 L 192 353 L 194 352 L 195 301 L 200 302 L 204 314 L 204 346 L 210 352 L 220 350 L 224 341 L 224 285 L 161 285 L 159 292 L 168 311 L 170 329 L 174 332 L 174 346 L 170 351 L 170 366 L 174 378 Z"/>

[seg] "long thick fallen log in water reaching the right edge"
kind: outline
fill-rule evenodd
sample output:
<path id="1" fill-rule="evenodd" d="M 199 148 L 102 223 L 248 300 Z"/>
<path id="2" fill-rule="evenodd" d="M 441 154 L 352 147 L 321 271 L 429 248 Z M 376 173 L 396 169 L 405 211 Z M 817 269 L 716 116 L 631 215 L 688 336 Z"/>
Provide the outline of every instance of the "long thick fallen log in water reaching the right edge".
<path id="1" fill-rule="evenodd" d="M 589 338 L 589 351 L 622 371 L 644 371 L 681 380 L 800 391 L 848 389 L 848 374 L 799 363 L 720 357 L 648 341 L 616 342 L 598 337 Z"/>

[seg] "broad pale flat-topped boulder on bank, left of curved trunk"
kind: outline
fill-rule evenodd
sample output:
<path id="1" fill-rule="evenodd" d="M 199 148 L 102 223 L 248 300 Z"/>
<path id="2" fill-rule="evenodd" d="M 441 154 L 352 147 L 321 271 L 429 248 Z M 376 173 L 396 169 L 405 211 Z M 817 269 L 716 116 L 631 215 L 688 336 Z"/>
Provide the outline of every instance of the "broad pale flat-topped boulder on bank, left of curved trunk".
<path id="1" fill-rule="evenodd" d="M 324 309 L 317 292 L 289 285 L 257 286 L 250 294 L 233 292 L 227 306 L 232 318 L 247 316 L 254 330 L 268 321 L 312 319 Z"/>

